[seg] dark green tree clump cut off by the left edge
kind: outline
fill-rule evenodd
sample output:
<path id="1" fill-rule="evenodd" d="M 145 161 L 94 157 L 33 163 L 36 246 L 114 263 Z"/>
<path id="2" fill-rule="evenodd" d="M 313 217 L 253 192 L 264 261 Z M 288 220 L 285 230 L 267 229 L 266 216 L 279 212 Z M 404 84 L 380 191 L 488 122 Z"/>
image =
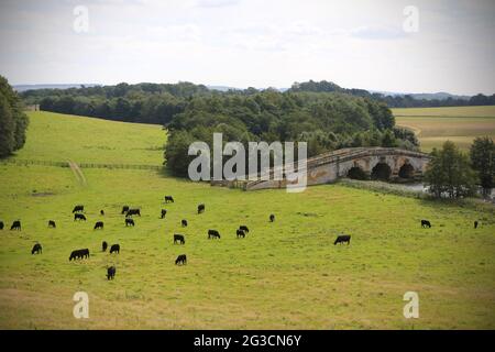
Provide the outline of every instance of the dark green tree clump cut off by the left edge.
<path id="1" fill-rule="evenodd" d="M 24 145 L 28 123 L 19 96 L 0 76 L 0 157 L 9 156 Z"/>

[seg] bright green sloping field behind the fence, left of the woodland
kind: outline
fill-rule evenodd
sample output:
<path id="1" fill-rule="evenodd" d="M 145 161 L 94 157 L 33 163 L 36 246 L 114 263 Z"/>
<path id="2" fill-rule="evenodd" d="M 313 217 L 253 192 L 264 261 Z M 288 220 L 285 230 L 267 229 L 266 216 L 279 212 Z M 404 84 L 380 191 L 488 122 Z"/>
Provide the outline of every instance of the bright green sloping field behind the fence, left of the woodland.
<path id="1" fill-rule="evenodd" d="M 76 163 L 163 163 L 160 125 L 111 122 L 53 112 L 30 112 L 29 139 L 18 158 Z"/>

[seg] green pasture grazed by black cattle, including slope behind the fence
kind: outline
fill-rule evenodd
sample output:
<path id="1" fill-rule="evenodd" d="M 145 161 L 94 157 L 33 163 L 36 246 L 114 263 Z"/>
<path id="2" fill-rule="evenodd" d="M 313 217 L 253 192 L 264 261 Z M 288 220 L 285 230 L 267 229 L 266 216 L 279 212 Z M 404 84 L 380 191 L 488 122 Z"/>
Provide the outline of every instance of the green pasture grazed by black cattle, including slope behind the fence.
<path id="1" fill-rule="evenodd" d="M 111 161 L 122 147 L 135 153 L 130 162 L 140 161 L 138 151 L 148 163 L 161 162 L 155 147 L 164 134 L 157 127 L 133 132 L 133 125 L 85 118 L 31 113 L 31 119 L 29 148 L 18 157 L 56 158 L 61 153 Z M 37 120 L 54 128 L 33 128 Z M 91 134 L 85 121 L 116 131 L 111 139 L 119 145 L 105 139 L 89 143 L 86 133 L 73 131 Z M 77 139 L 62 143 L 61 130 Z M 133 135 L 134 146 L 118 131 Z M 58 142 L 45 151 L 36 136 L 41 132 L 43 140 Z M 244 193 L 152 170 L 82 173 L 86 185 L 68 168 L 0 164 L 0 220 L 10 226 L 21 219 L 23 224 L 21 232 L 0 231 L 0 328 L 495 328 L 492 208 L 341 185 L 301 194 Z M 165 195 L 173 195 L 175 204 L 164 205 Z M 199 202 L 207 207 L 200 216 Z M 73 221 L 76 204 L 86 206 L 87 223 Z M 124 227 L 122 205 L 141 207 L 135 228 Z M 162 208 L 168 210 L 164 220 Z M 272 212 L 274 223 L 268 222 Z M 47 228 L 51 219 L 57 229 Z M 182 219 L 188 228 L 180 228 Z M 433 227 L 421 229 L 420 219 Z M 472 228 L 475 219 L 481 221 L 477 230 Z M 105 221 L 105 230 L 92 230 L 97 220 Z M 251 230 L 242 240 L 235 239 L 240 224 Z M 208 229 L 218 229 L 221 240 L 207 240 Z M 352 235 L 349 246 L 333 245 L 338 232 Z M 174 245 L 174 233 L 185 234 L 186 244 Z M 121 253 L 102 253 L 103 240 L 120 243 Z M 43 245 L 41 255 L 30 253 L 35 241 Z M 70 252 L 81 248 L 89 248 L 90 258 L 69 262 Z M 188 264 L 174 265 L 183 253 Z M 111 264 L 117 276 L 109 282 L 106 267 Z M 89 295 L 89 319 L 73 317 L 73 295 L 79 290 Z M 403 295 L 409 290 L 419 295 L 418 319 L 403 316 Z"/>

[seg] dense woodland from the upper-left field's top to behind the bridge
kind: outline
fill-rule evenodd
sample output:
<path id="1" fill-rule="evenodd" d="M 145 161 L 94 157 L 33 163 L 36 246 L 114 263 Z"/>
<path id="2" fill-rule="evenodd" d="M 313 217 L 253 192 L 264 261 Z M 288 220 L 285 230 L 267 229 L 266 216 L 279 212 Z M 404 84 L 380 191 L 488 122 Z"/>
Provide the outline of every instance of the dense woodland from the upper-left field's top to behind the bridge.
<path id="1" fill-rule="evenodd" d="M 332 84 L 330 84 L 332 85 Z M 332 86 L 333 87 L 333 86 Z M 308 89 L 310 90 L 310 89 Z M 41 110 L 129 122 L 160 123 L 168 129 L 167 166 L 185 175 L 194 141 L 304 141 L 309 156 L 345 146 L 402 146 L 415 150 L 413 132 L 394 128 L 385 102 L 360 91 L 306 91 L 299 86 L 280 92 L 213 91 L 189 82 L 140 84 L 22 94 Z"/>

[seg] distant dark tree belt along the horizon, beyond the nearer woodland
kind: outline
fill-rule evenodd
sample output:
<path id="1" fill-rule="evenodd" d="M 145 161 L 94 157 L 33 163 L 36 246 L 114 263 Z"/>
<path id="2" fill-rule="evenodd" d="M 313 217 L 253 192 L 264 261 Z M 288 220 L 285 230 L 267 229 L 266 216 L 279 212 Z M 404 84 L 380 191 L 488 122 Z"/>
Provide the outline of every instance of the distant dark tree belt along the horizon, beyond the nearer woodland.
<path id="1" fill-rule="evenodd" d="M 248 88 L 220 92 L 204 85 L 178 84 L 138 84 L 125 82 L 116 86 L 95 86 L 68 89 L 36 89 L 21 94 L 26 105 L 40 105 L 45 111 L 97 117 L 108 120 L 167 124 L 172 118 L 185 110 L 193 97 L 211 96 L 254 96 L 262 90 Z M 263 91 L 277 92 L 274 88 Z M 410 95 L 385 96 L 364 89 L 346 89 L 331 81 L 295 82 L 286 94 L 345 94 L 384 102 L 391 108 L 413 107 L 453 107 L 495 105 L 495 95 L 476 95 L 470 99 L 418 99 Z"/>

